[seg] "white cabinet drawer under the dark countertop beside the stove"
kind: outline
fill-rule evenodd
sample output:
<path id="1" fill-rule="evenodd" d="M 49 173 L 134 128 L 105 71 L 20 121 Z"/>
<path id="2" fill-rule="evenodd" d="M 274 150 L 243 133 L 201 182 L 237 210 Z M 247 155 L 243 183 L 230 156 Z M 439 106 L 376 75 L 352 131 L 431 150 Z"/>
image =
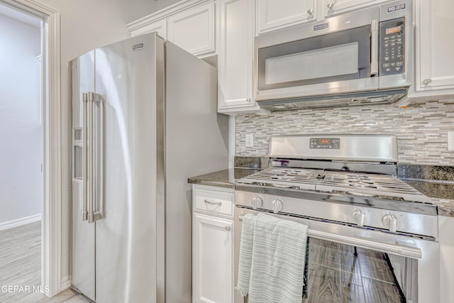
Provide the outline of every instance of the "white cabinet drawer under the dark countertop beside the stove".
<path id="1" fill-rule="evenodd" d="M 233 191 L 194 188 L 194 211 L 233 216 Z"/>

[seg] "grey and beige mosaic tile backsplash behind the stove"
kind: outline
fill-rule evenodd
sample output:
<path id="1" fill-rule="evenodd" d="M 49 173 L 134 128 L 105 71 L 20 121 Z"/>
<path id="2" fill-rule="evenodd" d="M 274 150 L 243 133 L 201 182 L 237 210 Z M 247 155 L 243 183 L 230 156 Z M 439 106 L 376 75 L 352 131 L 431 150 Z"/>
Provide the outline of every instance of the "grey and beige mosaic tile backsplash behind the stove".
<path id="1" fill-rule="evenodd" d="M 245 114 L 236 117 L 236 155 L 267 155 L 268 140 L 276 135 L 385 133 L 397 136 L 399 163 L 454 165 L 448 131 L 454 131 L 454 100 L 419 101 L 406 109 L 387 105 Z M 253 148 L 245 146 L 249 133 Z"/>

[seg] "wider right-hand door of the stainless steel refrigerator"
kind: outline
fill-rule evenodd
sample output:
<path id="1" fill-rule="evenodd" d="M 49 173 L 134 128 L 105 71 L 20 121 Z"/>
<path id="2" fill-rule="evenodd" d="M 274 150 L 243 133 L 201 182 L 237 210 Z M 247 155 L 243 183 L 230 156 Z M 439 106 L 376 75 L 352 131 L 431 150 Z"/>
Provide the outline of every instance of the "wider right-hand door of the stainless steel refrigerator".
<path id="1" fill-rule="evenodd" d="M 140 35 L 96 48 L 95 57 L 95 113 L 101 113 L 95 119 L 101 141 L 95 166 L 104 176 L 96 180 L 103 197 L 96 197 L 94 211 L 100 215 L 96 302 L 162 302 L 156 299 L 156 83 L 163 77 L 162 39 Z"/>

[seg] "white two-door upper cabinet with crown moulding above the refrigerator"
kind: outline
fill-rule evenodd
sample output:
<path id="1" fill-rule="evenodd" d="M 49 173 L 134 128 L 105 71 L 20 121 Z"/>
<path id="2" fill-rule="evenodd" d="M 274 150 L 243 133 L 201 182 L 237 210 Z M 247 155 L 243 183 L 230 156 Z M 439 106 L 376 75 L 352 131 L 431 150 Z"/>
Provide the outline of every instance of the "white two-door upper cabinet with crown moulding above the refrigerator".
<path id="1" fill-rule="evenodd" d="M 157 31 L 198 57 L 216 55 L 216 0 L 183 0 L 127 25 L 131 35 Z"/>

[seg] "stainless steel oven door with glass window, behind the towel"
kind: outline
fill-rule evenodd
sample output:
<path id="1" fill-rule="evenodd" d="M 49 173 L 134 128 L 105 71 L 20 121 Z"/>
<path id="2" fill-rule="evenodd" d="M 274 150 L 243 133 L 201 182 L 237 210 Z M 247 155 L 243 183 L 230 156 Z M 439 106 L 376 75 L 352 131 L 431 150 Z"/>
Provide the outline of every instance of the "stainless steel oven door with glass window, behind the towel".
<path id="1" fill-rule="evenodd" d="M 242 217 L 260 211 L 235 209 L 234 285 L 238 282 L 238 258 Z M 271 214 L 308 226 L 309 262 L 307 297 L 302 302 L 439 302 L 439 245 L 421 238 L 343 226 L 323 221 Z M 358 249 L 358 256 L 355 252 Z M 367 259 L 367 258 L 368 259 Z M 392 265 L 394 272 L 385 275 Z M 328 294 L 326 290 L 328 287 Z M 234 293 L 234 302 L 244 298 Z M 328 301 L 331 302 L 331 301 Z"/>

